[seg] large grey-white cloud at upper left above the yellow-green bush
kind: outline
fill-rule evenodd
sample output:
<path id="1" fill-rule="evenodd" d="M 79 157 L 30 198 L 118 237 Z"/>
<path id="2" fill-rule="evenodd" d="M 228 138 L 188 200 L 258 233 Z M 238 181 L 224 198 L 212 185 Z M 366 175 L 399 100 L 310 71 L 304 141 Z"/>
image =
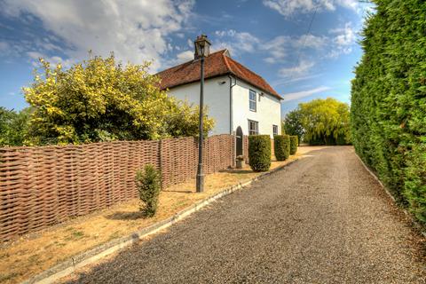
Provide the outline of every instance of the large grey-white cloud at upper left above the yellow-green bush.
<path id="1" fill-rule="evenodd" d="M 29 13 L 41 20 L 67 45 L 62 52 L 71 60 L 87 58 L 89 50 L 103 56 L 114 51 L 124 62 L 156 59 L 153 69 L 157 69 L 172 48 L 168 36 L 185 26 L 193 4 L 193 0 L 4 0 L 0 8 L 9 17 L 20 19 Z M 56 45 L 44 43 L 43 50 L 55 51 Z"/>

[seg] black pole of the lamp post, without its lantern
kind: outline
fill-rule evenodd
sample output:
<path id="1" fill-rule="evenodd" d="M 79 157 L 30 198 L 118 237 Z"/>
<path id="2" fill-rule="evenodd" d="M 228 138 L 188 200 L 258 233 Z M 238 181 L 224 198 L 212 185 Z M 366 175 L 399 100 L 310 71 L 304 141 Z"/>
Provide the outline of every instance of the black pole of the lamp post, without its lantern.
<path id="1" fill-rule="evenodd" d="M 202 53 L 204 53 L 202 51 Z M 201 55 L 201 89 L 200 89 L 200 123 L 199 123 L 199 138 L 198 138 L 198 169 L 197 169 L 197 193 L 202 193 L 204 191 L 204 173 L 202 172 L 202 141 L 204 138 L 203 133 L 203 114 L 202 110 L 204 108 L 204 54 Z"/>

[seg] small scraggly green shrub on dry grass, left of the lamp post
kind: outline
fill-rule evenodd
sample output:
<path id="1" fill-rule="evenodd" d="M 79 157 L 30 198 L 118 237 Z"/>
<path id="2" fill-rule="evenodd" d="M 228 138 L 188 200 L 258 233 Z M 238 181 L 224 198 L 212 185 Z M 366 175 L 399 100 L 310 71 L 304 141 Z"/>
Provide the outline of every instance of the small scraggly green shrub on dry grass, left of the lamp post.
<path id="1" fill-rule="evenodd" d="M 136 172 L 136 186 L 139 199 L 143 202 L 140 210 L 146 217 L 153 217 L 158 206 L 158 196 L 161 191 L 161 174 L 154 166 L 147 164 L 144 171 Z"/>

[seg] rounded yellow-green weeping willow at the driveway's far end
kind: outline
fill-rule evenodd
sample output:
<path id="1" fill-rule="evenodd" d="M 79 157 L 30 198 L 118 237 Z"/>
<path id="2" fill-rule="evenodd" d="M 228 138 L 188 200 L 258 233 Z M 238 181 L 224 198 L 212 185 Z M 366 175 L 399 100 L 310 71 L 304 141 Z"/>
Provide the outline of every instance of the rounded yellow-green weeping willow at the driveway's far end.
<path id="1" fill-rule="evenodd" d="M 288 134 L 302 132 L 304 142 L 311 145 L 347 145 L 351 143 L 349 115 L 349 106 L 343 102 L 313 99 L 287 115 L 286 131 L 298 129 L 297 133 Z"/>

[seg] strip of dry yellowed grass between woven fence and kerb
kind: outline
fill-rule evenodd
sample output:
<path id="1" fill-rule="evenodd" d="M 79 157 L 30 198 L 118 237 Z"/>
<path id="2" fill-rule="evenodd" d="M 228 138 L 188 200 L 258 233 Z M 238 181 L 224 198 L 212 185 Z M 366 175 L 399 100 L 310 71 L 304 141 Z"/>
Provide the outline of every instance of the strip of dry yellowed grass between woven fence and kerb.
<path id="1" fill-rule="evenodd" d="M 300 147 L 299 153 L 290 156 L 288 161 L 272 162 L 271 169 L 294 161 L 306 152 Z M 138 200 L 132 200 L 4 243 L 0 248 L 0 282 L 27 280 L 71 256 L 153 225 L 225 187 L 259 175 L 248 165 L 241 170 L 223 170 L 205 177 L 203 193 L 195 193 L 195 179 L 162 191 L 155 217 L 144 218 L 138 210 Z"/>

